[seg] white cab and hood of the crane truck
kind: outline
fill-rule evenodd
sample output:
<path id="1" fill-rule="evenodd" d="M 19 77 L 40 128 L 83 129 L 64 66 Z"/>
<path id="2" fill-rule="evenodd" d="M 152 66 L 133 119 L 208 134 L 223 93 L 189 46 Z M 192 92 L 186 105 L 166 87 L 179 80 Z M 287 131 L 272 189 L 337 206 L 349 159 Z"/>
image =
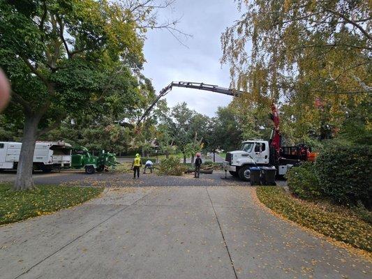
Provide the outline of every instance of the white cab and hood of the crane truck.
<path id="1" fill-rule="evenodd" d="M 239 177 L 241 180 L 251 179 L 250 167 L 267 166 L 270 161 L 269 142 L 265 140 L 247 140 L 241 143 L 237 151 L 226 154 L 223 163 L 225 171 L 232 176 Z"/>

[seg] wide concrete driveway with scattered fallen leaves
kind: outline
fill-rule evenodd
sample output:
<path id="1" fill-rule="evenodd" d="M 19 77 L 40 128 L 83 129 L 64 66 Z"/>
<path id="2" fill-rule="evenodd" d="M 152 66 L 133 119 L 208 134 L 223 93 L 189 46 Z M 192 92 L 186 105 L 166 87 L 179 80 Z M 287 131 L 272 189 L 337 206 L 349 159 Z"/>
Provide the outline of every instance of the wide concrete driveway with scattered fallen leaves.
<path id="1" fill-rule="evenodd" d="M 371 278 L 369 262 L 267 213 L 246 184 L 171 179 L 0 227 L 0 277 Z"/>

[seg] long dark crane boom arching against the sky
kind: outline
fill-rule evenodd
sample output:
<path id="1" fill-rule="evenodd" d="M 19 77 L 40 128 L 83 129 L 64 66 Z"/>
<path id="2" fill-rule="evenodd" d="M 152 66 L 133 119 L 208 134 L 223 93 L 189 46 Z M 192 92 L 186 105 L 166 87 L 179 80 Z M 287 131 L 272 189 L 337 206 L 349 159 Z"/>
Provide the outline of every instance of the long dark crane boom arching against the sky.
<path id="1" fill-rule="evenodd" d="M 184 87 L 184 88 L 191 88 L 191 89 L 199 89 L 199 90 L 204 90 L 204 91 L 212 91 L 216 93 L 221 93 L 225 94 L 228 96 L 240 96 L 241 93 L 244 91 L 239 91 L 235 89 L 228 89 L 225 87 L 217 86 L 217 85 L 212 85 L 212 84 L 204 84 L 200 82 L 171 82 L 168 86 L 165 86 L 161 91 L 159 92 L 159 95 L 156 97 L 154 102 L 149 106 L 149 108 L 142 114 L 140 119 L 137 121 L 137 126 L 141 123 L 141 121 L 144 119 L 144 117 L 151 112 L 151 110 L 154 108 L 156 103 L 158 103 L 158 100 L 160 100 L 162 97 L 170 93 L 172 91 L 173 87 Z"/>

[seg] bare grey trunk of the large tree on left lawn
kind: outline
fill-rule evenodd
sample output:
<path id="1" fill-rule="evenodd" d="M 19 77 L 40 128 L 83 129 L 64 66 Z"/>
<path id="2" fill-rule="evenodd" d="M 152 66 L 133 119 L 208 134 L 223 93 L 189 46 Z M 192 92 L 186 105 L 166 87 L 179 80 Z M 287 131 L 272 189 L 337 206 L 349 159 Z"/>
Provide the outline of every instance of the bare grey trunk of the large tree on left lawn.
<path id="1" fill-rule="evenodd" d="M 40 117 L 35 114 L 26 114 L 25 116 L 22 147 L 20 151 L 20 160 L 18 161 L 17 176 L 15 177 L 14 190 L 31 190 L 34 188 L 32 169 L 34 165 L 34 151 Z"/>

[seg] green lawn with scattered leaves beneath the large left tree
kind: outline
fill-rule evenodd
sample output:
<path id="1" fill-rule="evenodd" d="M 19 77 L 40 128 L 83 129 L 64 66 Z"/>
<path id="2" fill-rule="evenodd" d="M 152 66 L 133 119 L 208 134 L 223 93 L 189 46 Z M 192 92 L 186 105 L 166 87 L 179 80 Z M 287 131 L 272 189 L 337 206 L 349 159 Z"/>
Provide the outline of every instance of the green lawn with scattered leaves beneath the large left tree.
<path id="1" fill-rule="evenodd" d="M 66 209 L 103 191 L 92 187 L 37 186 L 35 190 L 15 192 L 12 187 L 0 184 L 0 225 Z"/>

